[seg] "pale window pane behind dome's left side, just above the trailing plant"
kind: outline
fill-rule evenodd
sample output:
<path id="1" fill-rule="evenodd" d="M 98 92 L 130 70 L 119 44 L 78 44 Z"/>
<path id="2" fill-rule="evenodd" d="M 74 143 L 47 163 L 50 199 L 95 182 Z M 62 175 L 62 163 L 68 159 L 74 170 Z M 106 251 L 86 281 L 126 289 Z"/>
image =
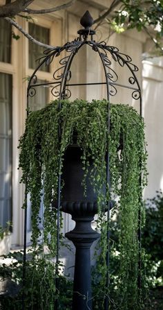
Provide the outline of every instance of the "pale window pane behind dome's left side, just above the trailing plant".
<path id="1" fill-rule="evenodd" d="M 47 81 L 37 80 L 37 83 L 47 83 Z M 48 87 L 38 86 L 35 87 L 35 90 L 35 96 L 29 97 L 29 106 L 31 111 L 40 110 L 48 103 Z"/>

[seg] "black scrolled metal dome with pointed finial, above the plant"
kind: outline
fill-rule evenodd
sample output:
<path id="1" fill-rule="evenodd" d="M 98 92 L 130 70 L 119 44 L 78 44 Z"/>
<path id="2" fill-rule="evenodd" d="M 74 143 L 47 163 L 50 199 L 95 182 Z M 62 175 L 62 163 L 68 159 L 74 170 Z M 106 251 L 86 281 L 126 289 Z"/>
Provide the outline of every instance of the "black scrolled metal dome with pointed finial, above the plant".
<path id="1" fill-rule="evenodd" d="M 140 114 L 142 114 L 142 101 L 141 101 L 141 89 L 138 83 L 135 73 L 138 68 L 133 64 L 130 56 L 121 53 L 119 49 L 115 46 L 106 45 L 106 42 L 95 42 L 93 40 L 93 35 L 95 31 L 90 29 L 93 25 L 93 17 L 90 13 L 86 11 L 83 17 L 81 17 L 81 26 L 84 29 L 79 30 L 77 33 L 79 37 L 72 42 L 67 42 L 64 46 L 57 46 L 54 49 L 48 49 L 44 51 L 44 56 L 39 58 L 39 64 L 37 65 L 35 71 L 30 77 L 28 83 L 28 96 L 35 96 L 36 89 L 41 85 L 49 85 L 52 87 L 51 93 L 53 96 L 61 99 L 70 98 L 71 87 L 81 86 L 81 85 L 106 85 L 107 99 L 110 101 L 111 96 L 117 94 L 117 87 L 124 87 L 126 89 L 131 89 L 132 98 L 135 100 L 140 99 Z M 73 71 L 71 70 L 71 64 L 73 59 L 79 49 L 83 46 L 89 46 L 90 49 L 98 53 L 99 60 L 102 62 L 105 74 L 105 82 L 101 83 L 70 83 L 70 79 L 73 76 Z M 64 55 L 66 53 L 66 56 Z M 53 81 L 50 83 L 37 83 L 37 71 L 46 64 L 49 65 L 54 62 L 57 57 L 64 55 L 61 60 L 59 60 L 60 67 L 52 73 Z M 119 77 L 113 69 L 112 64 L 116 62 L 120 67 L 128 69 L 128 80 L 125 81 L 126 84 L 121 83 Z"/>

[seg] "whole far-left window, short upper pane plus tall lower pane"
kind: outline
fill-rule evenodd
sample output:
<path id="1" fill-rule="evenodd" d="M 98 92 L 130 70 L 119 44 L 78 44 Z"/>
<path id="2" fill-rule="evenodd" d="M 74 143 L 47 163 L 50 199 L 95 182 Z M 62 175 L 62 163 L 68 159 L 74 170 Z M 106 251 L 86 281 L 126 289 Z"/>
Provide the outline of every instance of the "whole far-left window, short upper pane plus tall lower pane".
<path id="1" fill-rule="evenodd" d="M 11 26 L 0 19 L 0 62 L 11 62 Z M 12 74 L 0 72 L 0 225 L 12 219 Z"/>

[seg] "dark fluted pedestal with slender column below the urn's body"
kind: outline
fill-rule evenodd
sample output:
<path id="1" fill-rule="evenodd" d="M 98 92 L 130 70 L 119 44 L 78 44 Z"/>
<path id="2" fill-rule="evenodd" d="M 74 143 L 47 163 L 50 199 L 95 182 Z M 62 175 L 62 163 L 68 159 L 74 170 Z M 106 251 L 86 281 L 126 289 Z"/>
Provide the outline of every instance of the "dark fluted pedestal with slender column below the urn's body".
<path id="1" fill-rule="evenodd" d="M 91 227 L 97 213 L 97 203 L 64 203 L 62 210 L 70 213 L 76 225 L 66 237 L 73 241 L 75 253 L 75 275 L 73 286 L 73 310 L 92 310 L 92 289 L 90 273 L 90 246 L 100 236 Z M 76 206 L 76 207 L 75 207 Z"/>

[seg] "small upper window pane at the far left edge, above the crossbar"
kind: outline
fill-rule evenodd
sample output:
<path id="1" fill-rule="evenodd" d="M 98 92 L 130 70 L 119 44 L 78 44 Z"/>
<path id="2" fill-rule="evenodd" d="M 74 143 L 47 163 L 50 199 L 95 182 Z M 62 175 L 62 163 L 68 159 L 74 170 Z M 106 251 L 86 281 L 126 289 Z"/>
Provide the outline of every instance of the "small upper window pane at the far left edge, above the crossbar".
<path id="1" fill-rule="evenodd" d="M 0 18 L 0 61 L 11 61 L 11 25 Z"/>

